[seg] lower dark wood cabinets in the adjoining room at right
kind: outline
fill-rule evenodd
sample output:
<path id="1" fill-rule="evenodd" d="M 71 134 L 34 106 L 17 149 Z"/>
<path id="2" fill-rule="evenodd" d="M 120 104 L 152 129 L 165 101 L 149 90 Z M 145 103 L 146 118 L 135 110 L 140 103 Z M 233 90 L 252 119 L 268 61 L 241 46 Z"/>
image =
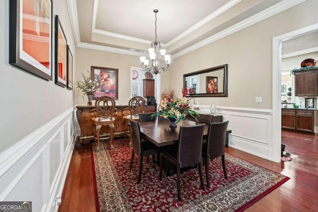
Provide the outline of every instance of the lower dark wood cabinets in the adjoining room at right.
<path id="1" fill-rule="evenodd" d="M 315 111 L 282 109 L 282 129 L 314 133 Z"/>

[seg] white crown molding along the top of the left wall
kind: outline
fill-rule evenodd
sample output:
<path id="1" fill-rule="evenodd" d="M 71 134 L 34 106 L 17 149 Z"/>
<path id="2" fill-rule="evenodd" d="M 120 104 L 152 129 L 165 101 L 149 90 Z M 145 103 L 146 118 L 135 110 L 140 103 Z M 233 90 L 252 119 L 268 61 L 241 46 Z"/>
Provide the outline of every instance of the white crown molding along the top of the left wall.
<path id="1" fill-rule="evenodd" d="M 78 19 L 78 9 L 76 6 L 76 0 L 66 0 L 66 4 L 69 11 L 75 44 L 76 46 L 78 46 L 80 43 L 80 36 L 79 36 L 79 19 Z"/>

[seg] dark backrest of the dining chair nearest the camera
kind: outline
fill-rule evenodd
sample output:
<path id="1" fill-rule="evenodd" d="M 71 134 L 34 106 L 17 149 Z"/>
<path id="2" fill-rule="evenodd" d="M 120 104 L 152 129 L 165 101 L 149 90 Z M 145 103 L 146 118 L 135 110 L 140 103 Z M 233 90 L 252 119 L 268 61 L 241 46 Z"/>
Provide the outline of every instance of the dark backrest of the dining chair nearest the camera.
<path id="1" fill-rule="evenodd" d="M 202 139 L 205 124 L 180 127 L 177 162 L 180 168 L 195 165 L 201 161 Z"/>

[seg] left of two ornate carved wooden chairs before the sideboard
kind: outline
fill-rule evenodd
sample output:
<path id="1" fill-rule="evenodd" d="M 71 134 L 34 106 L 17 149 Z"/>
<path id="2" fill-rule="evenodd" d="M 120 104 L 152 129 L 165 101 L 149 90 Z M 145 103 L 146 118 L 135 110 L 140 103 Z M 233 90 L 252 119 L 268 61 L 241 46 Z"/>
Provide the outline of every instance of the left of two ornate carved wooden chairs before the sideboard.
<path id="1" fill-rule="evenodd" d="M 100 141 L 100 129 L 102 126 L 109 126 L 110 128 L 110 147 L 114 149 L 113 141 L 114 141 L 114 123 L 115 118 L 117 116 L 117 112 L 115 109 L 115 101 L 113 98 L 109 96 L 100 97 L 95 101 L 95 109 L 91 110 L 91 119 L 94 122 L 94 130 L 95 136 L 97 139 L 97 148 L 96 151 L 99 151 L 99 141 Z M 115 116 L 114 113 L 115 112 Z"/>

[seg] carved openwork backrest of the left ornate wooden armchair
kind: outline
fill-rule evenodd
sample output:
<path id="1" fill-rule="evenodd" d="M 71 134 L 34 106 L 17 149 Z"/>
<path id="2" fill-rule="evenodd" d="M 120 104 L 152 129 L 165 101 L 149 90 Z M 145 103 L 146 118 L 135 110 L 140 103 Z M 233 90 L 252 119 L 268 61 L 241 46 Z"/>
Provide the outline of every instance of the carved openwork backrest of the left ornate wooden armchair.
<path id="1" fill-rule="evenodd" d="M 115 101 L 109 96 L 102 96 L 95 101 L 95 109 L 99 118 L 108 118 L 112 119 L 112 114 L 115 109 Z"/>

